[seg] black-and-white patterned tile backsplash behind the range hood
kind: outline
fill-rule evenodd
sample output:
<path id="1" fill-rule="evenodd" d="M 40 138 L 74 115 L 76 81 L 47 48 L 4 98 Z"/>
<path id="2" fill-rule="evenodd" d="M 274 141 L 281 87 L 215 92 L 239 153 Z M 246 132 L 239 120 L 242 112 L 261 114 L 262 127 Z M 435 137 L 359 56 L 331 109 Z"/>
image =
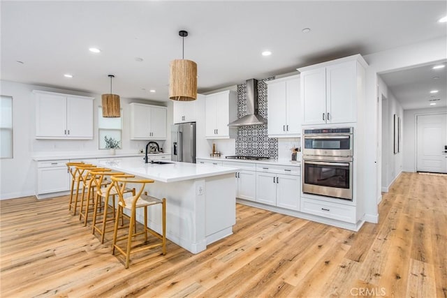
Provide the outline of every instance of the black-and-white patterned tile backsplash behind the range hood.
<path id="1" fill-rule="evenodd" d="M 268 77 L 258 80 L 258 107 L 259 114 L 268 119 L 267 114 L 267 84 L 266 81 L 273 80 Z M 247 114 L 247 91 L 246 84 L 237 85 L 237 118 Z M 247 156 L 268 156 L 278 158 L 278 139 L 268 137 L 267 125 L 239 126 L 236 137 L 236 154 Z"/>

